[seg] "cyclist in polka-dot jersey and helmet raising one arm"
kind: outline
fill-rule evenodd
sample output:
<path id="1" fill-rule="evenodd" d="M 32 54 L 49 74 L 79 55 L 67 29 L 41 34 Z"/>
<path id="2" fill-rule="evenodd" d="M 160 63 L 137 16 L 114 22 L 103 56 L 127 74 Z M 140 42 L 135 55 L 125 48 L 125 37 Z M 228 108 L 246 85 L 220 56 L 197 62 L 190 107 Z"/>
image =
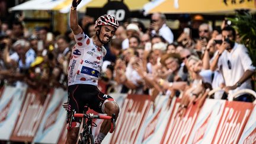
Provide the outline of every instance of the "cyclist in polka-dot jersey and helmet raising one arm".
<path id="1" fill-rule="evenodd" d="M 111 15 L 102 15 L 95 22 L 96 34 L 91 38 L 82 31 L 78 25 L 76 7 L 81 0 L 73 0 L 70 25 L 75 36 L 76 44 L 72 49 L 72 55 L 68 67 L 68 113 L 72 110 L 76 113 L 82 113 L 85 104 L 98 113 L 106 113 L 108 116 L 119 114 L 119 106 L 109 95 L 103 94 L 97 88 L 98 78 L 100 76 L 103 57 L 106 50 L 103 44 L 108 43 L 119 22 Z M 66 143 L 76 143 L 78 139 L 79 126 L 81 119 L 72 120 L 71 128 L 68 129 Z M 111 129 L 111 120 L 104 120 L 101 124 L 99 135 L 95 138 L 95 143 L 101 143 L 104 137 Z"/>

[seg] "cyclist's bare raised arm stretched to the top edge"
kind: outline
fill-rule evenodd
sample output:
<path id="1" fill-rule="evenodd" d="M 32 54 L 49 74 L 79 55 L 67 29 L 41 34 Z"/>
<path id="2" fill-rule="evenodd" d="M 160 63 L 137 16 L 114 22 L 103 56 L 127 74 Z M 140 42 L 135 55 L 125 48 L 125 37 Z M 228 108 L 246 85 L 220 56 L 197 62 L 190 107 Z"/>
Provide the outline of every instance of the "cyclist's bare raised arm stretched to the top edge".
<path id="1" fill-rule="evenodd" d="M 82 28 L 78 25 L 78 16 L 76 13 L 76 7 L 81 2 L 81 0 L 73 0 L 70 12 L 70 26 L 73 31 L 73 34 L 79 34 L 82 31 Z"/>

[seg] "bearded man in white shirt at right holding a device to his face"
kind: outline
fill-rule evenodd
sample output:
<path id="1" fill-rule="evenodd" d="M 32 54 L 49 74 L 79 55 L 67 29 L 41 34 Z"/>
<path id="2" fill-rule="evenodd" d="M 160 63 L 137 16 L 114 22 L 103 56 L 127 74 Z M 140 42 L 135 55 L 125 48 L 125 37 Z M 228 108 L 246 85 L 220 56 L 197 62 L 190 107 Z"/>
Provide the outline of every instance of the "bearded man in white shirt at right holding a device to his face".
<path id="1" fill-rule="evenodd" d="M 215 71 L 216 68 L 222 71 L 226 84 L 225 91 L 229 95 L 239 89 L 251 89 L 250 78 L 255 72 L 247 48 L 242 44 L 235 43 L 235 37 L 236 33 L 233 27 L 227 26 L 222 29 L 222 45 L 210 66 L 212 71 Z M 254 101 L 248 95 L 241 95 L 235 100 Z"/>

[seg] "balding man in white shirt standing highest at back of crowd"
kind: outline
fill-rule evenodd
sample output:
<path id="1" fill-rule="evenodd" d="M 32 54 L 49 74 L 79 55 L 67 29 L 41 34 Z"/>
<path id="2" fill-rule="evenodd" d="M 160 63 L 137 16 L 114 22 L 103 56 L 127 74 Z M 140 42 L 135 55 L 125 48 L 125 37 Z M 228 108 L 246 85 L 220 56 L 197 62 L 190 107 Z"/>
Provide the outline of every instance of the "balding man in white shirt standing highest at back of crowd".
<path id="1" fill-rule="evenodd" d="M 172 43 L 174 36 L 171 29 L 166 24 L 166 17 L 161 13 L 153 13 L 151 16 L 151 25 L 150 28 L 152 31 L 152 36 L 158 35 L 162 36 L 168 43 Z"/>

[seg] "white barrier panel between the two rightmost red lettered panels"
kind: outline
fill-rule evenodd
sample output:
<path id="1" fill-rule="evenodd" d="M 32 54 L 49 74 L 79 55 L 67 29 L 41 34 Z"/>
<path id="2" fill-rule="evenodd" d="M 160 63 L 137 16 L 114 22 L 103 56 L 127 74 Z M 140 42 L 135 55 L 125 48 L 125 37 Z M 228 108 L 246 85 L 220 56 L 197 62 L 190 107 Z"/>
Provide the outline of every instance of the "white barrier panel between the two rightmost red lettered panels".
<path id="1" fill-rule="evenodd" d="M 211 143 L 224 107 L 225 100 L 206 100 L 191 131 L 188 143 Z"/>

